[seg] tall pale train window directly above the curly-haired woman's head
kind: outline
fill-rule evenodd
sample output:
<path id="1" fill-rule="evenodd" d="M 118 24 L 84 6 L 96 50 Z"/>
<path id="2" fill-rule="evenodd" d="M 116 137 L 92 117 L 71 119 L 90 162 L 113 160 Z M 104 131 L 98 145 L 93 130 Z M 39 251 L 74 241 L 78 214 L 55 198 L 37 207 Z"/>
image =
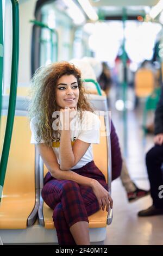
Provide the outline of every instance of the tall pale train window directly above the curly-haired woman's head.
<path id="1" fill-rule="evenodd" d="M 41 65 L 73 57 L 71 42 L 76 26 L 64 3 L 45 1 L 40 4 L 36 5 L 35 18 L 48 28 L 38 28 L 38 25 L 33 27 L 32 74 Z M 55 33 L 51 33 L 52 30 Z"/>

